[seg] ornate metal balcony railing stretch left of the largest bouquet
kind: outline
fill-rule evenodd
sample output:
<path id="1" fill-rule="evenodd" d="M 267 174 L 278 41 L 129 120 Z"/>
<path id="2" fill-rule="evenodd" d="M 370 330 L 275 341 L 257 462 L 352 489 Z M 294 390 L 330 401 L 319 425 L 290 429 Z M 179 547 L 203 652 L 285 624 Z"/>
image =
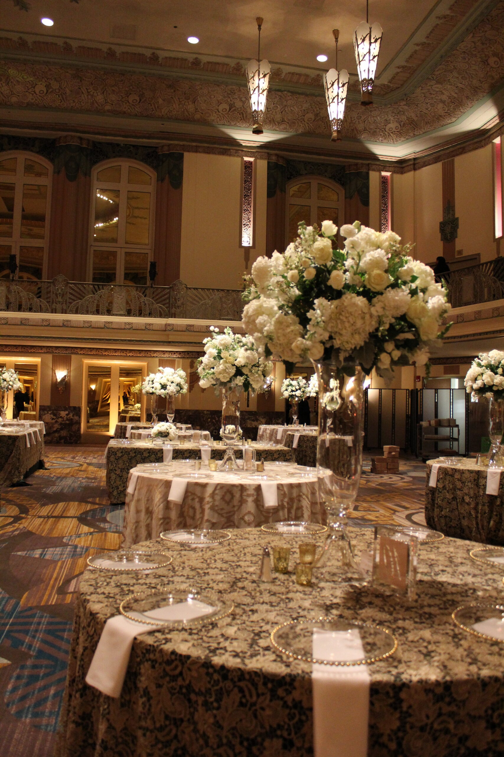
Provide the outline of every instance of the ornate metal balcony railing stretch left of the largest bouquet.
<path id="1" fill-rule="evenodd" d="M 0 281 L 0 311 L 126 318 L 242 318 L 239 289 L 203 289 L 177 281 L 170 286 L 129 286 L 16 279 Z"/>

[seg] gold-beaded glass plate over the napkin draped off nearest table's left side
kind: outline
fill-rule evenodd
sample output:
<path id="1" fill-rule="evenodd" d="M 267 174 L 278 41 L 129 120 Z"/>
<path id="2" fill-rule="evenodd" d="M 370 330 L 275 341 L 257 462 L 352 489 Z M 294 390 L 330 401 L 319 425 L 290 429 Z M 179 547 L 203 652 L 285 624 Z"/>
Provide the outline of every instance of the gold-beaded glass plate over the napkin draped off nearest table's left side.
<path id="1" fill-rule="evenodd" d="M 119 610 L 145 625 L 187 628 L 224 618 L 233 611 L 233 603 L 206 589 L 165 587 L 131 594 Z"/>

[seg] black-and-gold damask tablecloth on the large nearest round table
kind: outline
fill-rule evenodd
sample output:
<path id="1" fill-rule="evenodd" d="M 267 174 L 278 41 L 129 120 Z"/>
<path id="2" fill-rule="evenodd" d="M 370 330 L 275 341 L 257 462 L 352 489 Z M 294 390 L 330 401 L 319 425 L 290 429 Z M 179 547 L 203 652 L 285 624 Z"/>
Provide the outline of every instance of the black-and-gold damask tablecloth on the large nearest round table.
<path id="1" fill-rule="evenodd" d="M 357 553 L 369 549 L 372 529 L 350 532 Z M 502 572 L 468 556 L 476 544 L 422 544 L 419 597 L 409 604 L 367 587 L 300 587 L 292 573 L 258 581 L 262 547 L 279 541 L 297 551 L 296 537 L 240 529 L 212 547 L 143 544 L 173 556 L 150 575 L 85 571 L 57 757 L 310 757 L 311 665 L 277 653 L 270 634 L 321 613 L 397 635 L 396 653 L 369 665 L 369 757 L 502 755 L 502 645 L 450 618 L 472 600 L 502 600 Z M 291 570 L 294 562 L 291 553 Z M 235 608 L 217 624 L 135 638 L 122 694 L 110 699 L 84 680 L 104 623 L 128 594 L 161 585 L 212 587 Z"/>

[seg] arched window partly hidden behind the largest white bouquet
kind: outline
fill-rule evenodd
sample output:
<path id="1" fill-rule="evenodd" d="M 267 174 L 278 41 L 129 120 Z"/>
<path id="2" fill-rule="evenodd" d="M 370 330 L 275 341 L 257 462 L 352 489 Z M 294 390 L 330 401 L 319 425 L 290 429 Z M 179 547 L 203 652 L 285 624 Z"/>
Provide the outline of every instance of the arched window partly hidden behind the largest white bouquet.
<path id="1" fill-rule="evenodd" d="M 287 244 L 298 235 L 298 224 L 307 226 L 332 220 L 344 223 L 345 190 L 322 176 L 298 176 L 287 184 Z"/>

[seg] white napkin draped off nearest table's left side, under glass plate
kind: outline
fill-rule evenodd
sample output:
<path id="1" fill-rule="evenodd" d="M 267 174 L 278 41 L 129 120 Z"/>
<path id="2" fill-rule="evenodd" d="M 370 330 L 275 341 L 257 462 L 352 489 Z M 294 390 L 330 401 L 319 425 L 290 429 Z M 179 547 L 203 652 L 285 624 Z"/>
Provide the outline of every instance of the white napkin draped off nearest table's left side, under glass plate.
<path id="1" fill-rule="evenodd" d="M 208 615 L 213 609 L 203 602 L 193 600 L 159 607 L 145 614 L 159 620 L 189 620 L 199 615 Z M 159 625 L 135 623 L 124 615 L 109 618 L 91 660 L 86 683 L 108 696 L 120 696 L 135 636 L 148 634 L 158 628 Z"/>

